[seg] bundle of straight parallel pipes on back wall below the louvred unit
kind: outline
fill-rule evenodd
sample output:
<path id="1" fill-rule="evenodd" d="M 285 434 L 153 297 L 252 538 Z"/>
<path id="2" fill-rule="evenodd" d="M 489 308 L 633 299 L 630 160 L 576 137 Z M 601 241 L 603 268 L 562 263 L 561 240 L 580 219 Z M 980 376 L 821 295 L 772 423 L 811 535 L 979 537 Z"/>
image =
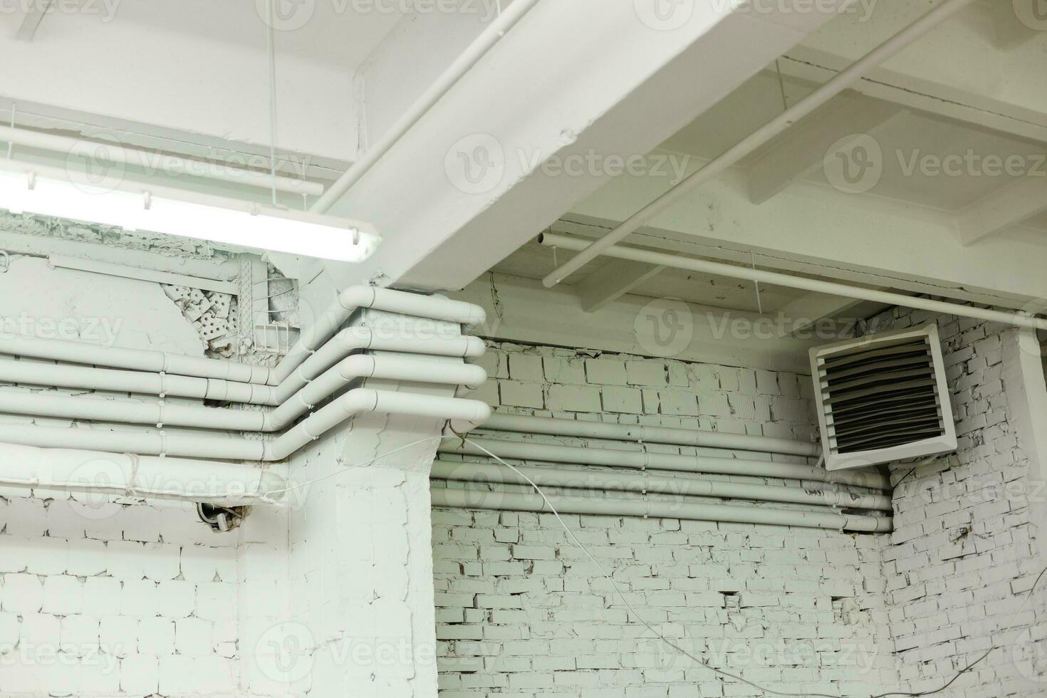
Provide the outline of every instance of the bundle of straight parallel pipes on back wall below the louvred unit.
<path id="1" fill-rule="evenodd" d="M 891 518 L 884 515 L 892 511 L 891 498 L 884 493 L 890 489 L 890 479 L 879 472 L 830 472 L 821 463 L 745 459 L 720 452 L 815 458 L 821 453 L 817 444 L 503 413 L 493 414 L 481 429 L 486 435 L 448 440 L 440 452 L 481 457 L 493 453 L 516 461 L 516 470 L 494 460 L 437 460 L 432 479 L 440 485 L 431 490 L 433 506 L 549 513 L 552 503 L 561 514 L 891 531 Z M 566 437 L 580 444 L 519 441 L 510 433 Z M 715 455 L 626 450 L 625 443 L 715 449 Z M 543 489 L 548 502 L 528 480 Z"/>

